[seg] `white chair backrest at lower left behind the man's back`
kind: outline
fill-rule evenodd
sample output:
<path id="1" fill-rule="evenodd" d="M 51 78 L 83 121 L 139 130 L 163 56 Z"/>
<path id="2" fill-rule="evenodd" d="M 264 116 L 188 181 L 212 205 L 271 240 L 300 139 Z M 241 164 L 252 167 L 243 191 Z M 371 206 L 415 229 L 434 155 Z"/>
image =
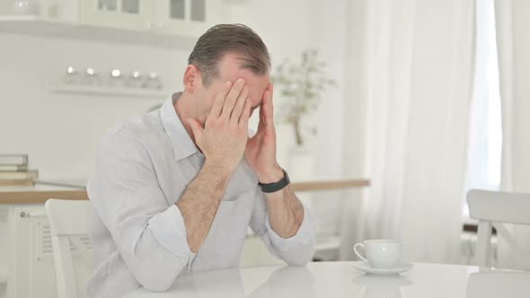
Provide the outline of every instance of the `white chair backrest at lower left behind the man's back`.
<path id="1" fill-rule="evenodd" d="M 90 201 L 50 198 L 44 205 L 49 219 L 59 298 L 78 298 L 72 250 L 92 254 L 89 234 Z M 79 291 L 84 291 L 82 285 Z"/>

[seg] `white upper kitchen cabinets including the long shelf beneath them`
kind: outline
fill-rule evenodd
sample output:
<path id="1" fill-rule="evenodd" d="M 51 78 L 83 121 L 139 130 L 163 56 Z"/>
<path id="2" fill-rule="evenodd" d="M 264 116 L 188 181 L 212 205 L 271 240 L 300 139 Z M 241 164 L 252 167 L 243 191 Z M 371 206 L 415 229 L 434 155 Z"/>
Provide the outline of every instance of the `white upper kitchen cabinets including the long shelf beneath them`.
<path id="1" fill-rule="evenodd" d="M 47 1 L 40 15 L 0 6 L 0 32 L 190 51 L 208 28 L 230 22 L 225 0 Z"/>

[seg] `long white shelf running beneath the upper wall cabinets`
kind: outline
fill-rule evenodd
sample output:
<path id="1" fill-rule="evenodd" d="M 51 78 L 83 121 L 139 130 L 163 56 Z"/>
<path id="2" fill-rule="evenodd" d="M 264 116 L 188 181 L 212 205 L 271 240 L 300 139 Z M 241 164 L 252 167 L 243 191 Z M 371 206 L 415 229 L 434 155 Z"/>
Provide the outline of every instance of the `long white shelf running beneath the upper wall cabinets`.
<path id="1" fill-rule="evenodd" d="M 0 16 L 0 32 L 190 50 L 196 39 L 157 31 L 110 28 L 31 15 Z"/>

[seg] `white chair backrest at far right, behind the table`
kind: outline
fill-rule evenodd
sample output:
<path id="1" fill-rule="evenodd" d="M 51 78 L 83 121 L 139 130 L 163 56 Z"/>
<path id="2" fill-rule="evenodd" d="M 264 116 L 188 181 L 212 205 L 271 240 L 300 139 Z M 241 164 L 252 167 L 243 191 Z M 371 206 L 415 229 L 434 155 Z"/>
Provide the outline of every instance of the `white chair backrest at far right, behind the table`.
<path id="1" fill-rule="evenodd" d="M 479 221 L 475 253 L 477 265 L 490 264 L 491 228 L 508 242 L 510 249 L 525 267 L 530 269 L 530 259 L 525 250 L 503 223 L 530 225 L 530 194 L 473 189 L 467 193 L 467 204 L 472 218 Z"/>

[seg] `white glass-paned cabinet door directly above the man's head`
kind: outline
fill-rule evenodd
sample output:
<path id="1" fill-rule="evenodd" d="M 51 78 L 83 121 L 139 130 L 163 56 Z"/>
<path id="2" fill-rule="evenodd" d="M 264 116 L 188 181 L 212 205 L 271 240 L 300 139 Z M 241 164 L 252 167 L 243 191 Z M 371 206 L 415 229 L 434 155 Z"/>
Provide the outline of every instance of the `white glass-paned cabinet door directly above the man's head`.
<path id="1" fill-rule="evenodd" d="M 157 0 L 155 27 L 158 30 L 193 38 L 225 17 L 223 0 Z"/>

